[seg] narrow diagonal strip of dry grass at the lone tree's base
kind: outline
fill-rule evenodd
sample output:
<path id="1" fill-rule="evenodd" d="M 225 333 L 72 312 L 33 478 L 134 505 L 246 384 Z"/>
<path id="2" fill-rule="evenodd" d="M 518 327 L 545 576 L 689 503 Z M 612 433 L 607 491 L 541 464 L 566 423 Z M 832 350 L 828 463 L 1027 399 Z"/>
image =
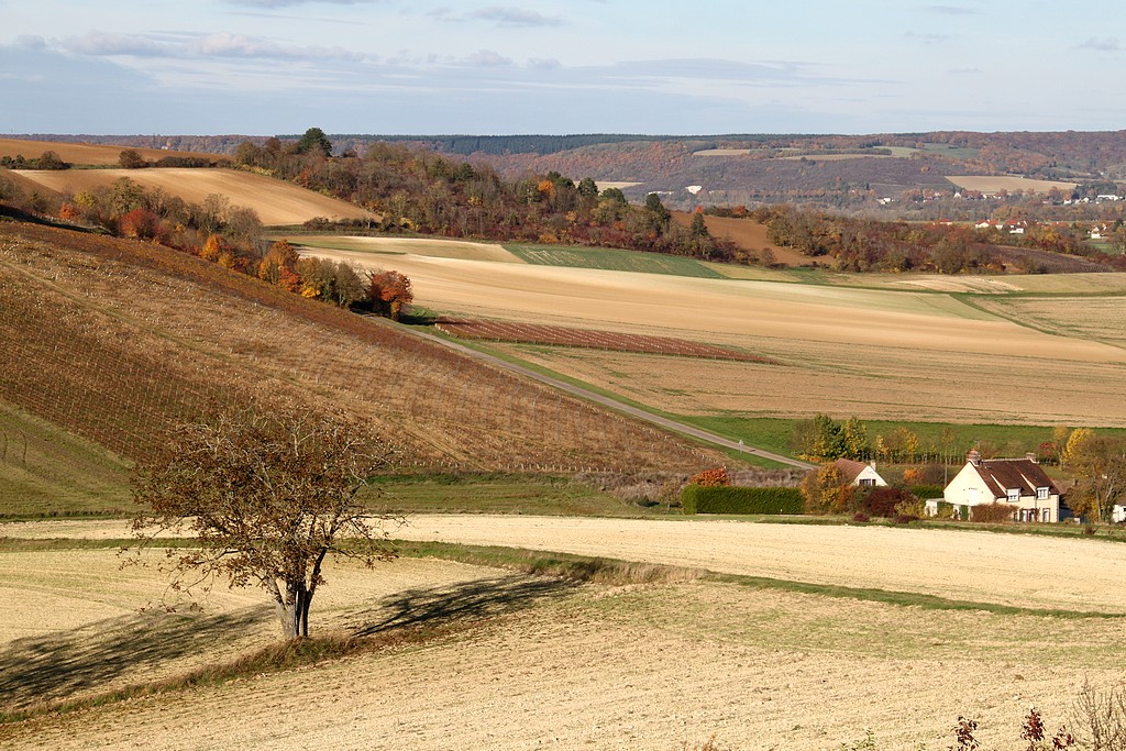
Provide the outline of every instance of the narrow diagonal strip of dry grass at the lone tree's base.
<path id="1" fill-rule="evenodd" d="M 135 683 L 82 699 L 45 701 L 15 712 L 0 712 L 0 725 L 26 722 L 44 715 L 68 714 L 91 709 L 128 699 L 138 699 L 171 691 L 217 686 L 227 681 L 252 678 L 263 673 L 278 673 L 316 665 L 358 654 L 377 652 L 396 646 L 417 645 L 446 638 L 453 634 L 480 626 L 453 624 L 394 628 L 373 636 L 320 636 L 278 642 L 230 662 L 207 665 L 180 676 L 157 681 Z"/>

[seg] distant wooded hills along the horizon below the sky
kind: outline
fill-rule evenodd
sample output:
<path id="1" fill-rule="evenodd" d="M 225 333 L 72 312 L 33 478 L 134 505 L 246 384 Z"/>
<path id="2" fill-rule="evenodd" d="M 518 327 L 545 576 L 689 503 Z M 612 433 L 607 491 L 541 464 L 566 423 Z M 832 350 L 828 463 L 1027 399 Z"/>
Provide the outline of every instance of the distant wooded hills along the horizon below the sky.
<path id="1" fill-rule="evenodd" d="M 42 140 L 73 136 L 39 136 Z M 266 136 L 81 136 L 98 143 L 195 149 L 227 155 Z M 297 134 L 280 136 L 294 142 Z M 767 205 L 796 202 L 833 211 L 878 211 L 921 218 L 973 218 L 995 207 L 912 203 L 953 196 L 948 176 L 1020 177 L 1079 185 L 1091 197 L 1126 182 L 1126 131 L 974 133 L 936 131 L 865 135 L 330 135 L 333 152 L 374 143 L 456 155 L 510 177 L 557 171 L 574 180 L 634 182 L 640 200 L 667 194 L 670 205 Z M 1045 184 L 1048 185 L 1047 182 Z M 691 190 L 687 190 L 691 188 Z M 1047 193 L 1047 187 L 1043 190 Z M 1064 217 L 1071 218 L 1071 217 Z M 1092 218 L 1092 217 L 1087 217 Z"/>

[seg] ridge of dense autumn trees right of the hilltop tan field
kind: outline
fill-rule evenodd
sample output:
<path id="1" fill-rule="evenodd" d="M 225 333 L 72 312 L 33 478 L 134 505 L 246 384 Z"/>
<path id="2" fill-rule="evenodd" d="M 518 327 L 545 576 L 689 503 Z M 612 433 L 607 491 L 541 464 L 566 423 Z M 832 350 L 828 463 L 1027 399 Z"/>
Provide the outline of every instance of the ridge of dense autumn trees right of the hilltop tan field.
<path id="1" fill-rule="evenodd" d="M 302 153 L 278 138 L 262 145 L 248 141 L 235 162 L 381 214 L 383 232 L 745 260 L 731 241 L 671 222 L 659 196 L 645 206 L 631 205 L 619 189 L 600 191 L 589 177 L 575 182 L 551 171 L 506 178 L 489 167 L 391 143 L 330 158 L 319 149 Z"/>

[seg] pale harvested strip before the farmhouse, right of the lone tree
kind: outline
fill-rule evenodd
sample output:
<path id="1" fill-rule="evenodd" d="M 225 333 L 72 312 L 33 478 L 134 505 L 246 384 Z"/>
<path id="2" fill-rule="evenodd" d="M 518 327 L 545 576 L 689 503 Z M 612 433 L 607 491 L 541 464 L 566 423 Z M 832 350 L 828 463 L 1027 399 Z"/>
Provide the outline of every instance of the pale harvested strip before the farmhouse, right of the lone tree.
<path id="1" fill-rule="evenodd" d="M 418 516 L 414 540 L 520 546 L 1021 608 L 1126 615 L 1123 543 L 941 529 L 723 520 Z M 1067 566 L 1038 562 L 1067 560 Z M 949 562 L 957 561 L 956 566 Z M 1072 567 L 1071 564 L 1074 564 Z M 1029 576 L 1036 569 L 1039 573 Z M 1082 575 L 1078 575 L 1082 572 Z"/>

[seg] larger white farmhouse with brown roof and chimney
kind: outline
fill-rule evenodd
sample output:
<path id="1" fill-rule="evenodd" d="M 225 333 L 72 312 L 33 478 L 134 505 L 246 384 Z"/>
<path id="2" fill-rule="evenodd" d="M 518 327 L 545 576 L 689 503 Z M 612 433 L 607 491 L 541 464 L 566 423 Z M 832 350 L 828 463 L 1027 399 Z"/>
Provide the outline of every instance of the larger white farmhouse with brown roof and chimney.
<path id="1" fill-rule="evenodd" d="M 1009 503 L 1018 521 L 1060 521 L 1060 490 L 1031 454 L 1022 459 L 983 459 L 972 450 L 966 466 L 942 491 L 947 503 Z"/>

